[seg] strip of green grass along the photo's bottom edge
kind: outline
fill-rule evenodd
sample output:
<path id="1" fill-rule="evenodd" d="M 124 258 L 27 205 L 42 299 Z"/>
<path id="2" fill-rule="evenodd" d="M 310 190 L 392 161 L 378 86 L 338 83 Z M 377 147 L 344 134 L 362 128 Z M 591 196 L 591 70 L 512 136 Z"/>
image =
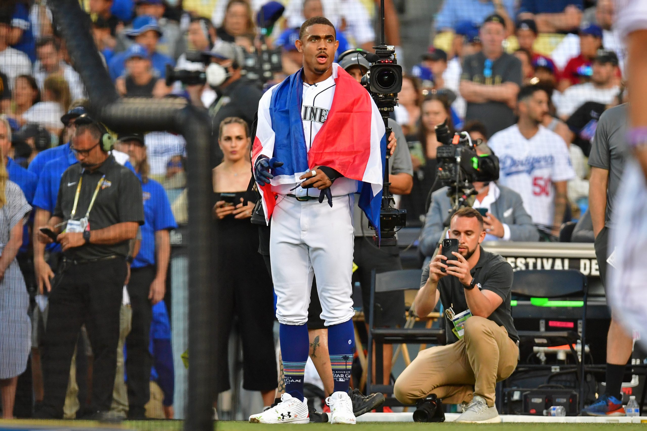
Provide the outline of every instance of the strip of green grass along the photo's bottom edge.
<path id="1" fill-rule="evenodd" d="M 182 421 L 124 421 L 119 425 L 109 425 L 91 421 L 0 421 L 0 431 L 17 429 L 52 429 L 60 430 L 88 430 L 94 428 L 129 429 L 136 431 L 182 431 Z M 602 423 L 501 423 L 501 424 L 457 424 L 445 423 L 401 423 L 401 422 L 369 422 L 357 425 L 332 425 L 334 429 L 345 428 L 355 431 L 625 431 L 647 430 L 647 424 L 602 424 Z M 311 423 L 307 425 L 278 424 L 261 425 L 247 422 L 221 421 L 217 423 L 218 431 L 265 431 L 288 430 L 303 431 L 331 431 L 329 423 Z M 351 428 L 352 427 L 352 428 Z"/>

